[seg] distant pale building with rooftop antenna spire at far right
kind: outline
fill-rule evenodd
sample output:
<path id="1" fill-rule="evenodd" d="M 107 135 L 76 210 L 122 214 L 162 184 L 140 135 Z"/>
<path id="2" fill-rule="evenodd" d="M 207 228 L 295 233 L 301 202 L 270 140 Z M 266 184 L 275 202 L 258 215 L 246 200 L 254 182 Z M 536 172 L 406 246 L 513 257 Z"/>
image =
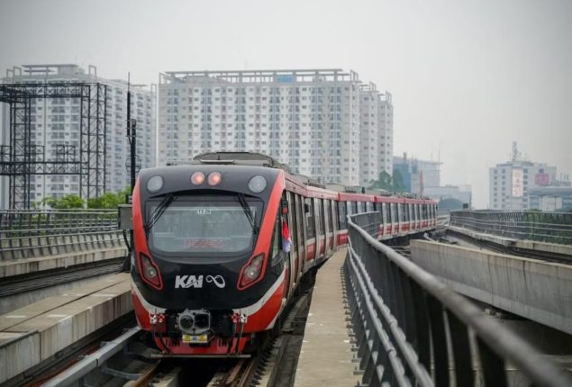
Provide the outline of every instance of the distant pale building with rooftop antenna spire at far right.
<path id="1" fill-rule="evenodd" d="M 523 211 L 540 208 L 531 202 L 531 190 L 569 184 L 567 176 L 557 180 L 556 166 L 522 160 L 513 143 L 513 159 L 489 168 L 489 207 L 493 210 Z"/>

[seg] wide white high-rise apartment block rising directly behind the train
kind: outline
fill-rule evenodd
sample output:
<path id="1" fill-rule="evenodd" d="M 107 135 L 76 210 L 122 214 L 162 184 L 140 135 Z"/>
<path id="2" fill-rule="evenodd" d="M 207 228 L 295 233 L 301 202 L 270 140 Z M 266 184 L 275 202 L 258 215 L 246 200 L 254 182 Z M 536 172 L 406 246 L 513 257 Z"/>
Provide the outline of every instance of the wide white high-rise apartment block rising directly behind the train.
<path id="1" fill-rule="evenodd" d="M 358 75 L 339 69 L 161 74 L 159 165 L 208 151 L 257 151 L 322 183 L 358 185 L 368 175 L 360 167 L 361 93 Z M 368 94 L 382 100 L 375 88 Z M 376 116 L 368 120 L 376 122 L 368 125 L 374 168 L 386 167 L 374 155 L 380 104 L 368 105 Z M 393 121 L 384 122 L 386 135 Z"/>

